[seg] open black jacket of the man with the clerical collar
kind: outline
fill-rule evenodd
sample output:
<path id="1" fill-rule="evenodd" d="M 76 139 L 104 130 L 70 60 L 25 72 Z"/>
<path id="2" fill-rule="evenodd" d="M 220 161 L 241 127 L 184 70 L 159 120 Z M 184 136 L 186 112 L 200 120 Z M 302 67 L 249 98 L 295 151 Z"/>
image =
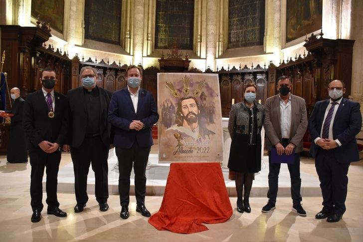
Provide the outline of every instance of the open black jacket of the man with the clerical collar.
<path id="1" fill-rule="evenodd" d="M 107 120 L 107 111 L 110 104 L 112 92 L 97 87 L 100 94 L 100 135 L 105 146 L 110 145 L 111 125 Z M 67 93 L 69 100 L 70 125 L 68 143 L 71 147 L 78 148 L 86 135 L 87 107 L 83 87 L 69 90 Z"/>

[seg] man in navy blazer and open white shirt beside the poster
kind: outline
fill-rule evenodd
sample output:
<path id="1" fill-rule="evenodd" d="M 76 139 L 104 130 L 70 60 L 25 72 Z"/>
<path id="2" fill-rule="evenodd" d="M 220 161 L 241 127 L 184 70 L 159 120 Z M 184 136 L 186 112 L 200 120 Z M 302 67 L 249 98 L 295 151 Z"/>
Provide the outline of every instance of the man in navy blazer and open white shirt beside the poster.
<path id="1" fill-rule="evenodd" d="M 152 126 L 159 114 L 151 92 L 140 88 L 142 69 L 126 69 L 127 87 L 112 95 L 108 119 L 115 130 L 114 146 L 119 161 L 120 217 L 129 218 L 130 174 L 134 163 L 136 212 L 150 217 L 145 207 L 145 170 L 153 143 Z"/>

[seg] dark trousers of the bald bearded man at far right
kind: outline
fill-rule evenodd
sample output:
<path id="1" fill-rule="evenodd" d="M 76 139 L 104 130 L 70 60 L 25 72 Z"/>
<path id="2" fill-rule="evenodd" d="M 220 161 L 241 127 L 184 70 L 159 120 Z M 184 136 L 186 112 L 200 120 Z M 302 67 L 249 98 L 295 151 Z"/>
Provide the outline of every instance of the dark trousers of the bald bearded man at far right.
<path id="1" fill-rule="evenodd" d="M 343 215 L 346 212 L 348 169 L 350 163 L 339 163 L 332 151 L 319 150 L 315 168 L 323 195 L 323 210 Z"/>

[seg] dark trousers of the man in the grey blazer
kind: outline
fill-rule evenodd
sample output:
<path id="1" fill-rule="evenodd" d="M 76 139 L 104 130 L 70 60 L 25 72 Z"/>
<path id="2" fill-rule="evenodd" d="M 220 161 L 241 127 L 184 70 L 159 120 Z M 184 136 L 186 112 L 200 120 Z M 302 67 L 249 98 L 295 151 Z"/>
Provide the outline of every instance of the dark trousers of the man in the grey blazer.
<path id="1" fill-rule="evenodd" d="M 289 144 L 288 139 L 282 139 L 282 145 L 286 147 Z M 278 190 L 278 182 L 279 182 L 279 173 L 281 164 L 279 163 L 271 163 L 271 152 L 268 153 L 268 163 L 269 163 L 269 172 L 268 172 L 268 192 L 267 198 L 269 202 L 272 204 L 276 203 L 277 190 Z M 290 173 L 291 180 L 291 198 L 293 204 L 300 204 L 302 201 L 300 195 L 301 188 L 301 179 L 300 179 L 300 153 L 295 153 L 294 164 L 287 164 L 287 168 Z"/>

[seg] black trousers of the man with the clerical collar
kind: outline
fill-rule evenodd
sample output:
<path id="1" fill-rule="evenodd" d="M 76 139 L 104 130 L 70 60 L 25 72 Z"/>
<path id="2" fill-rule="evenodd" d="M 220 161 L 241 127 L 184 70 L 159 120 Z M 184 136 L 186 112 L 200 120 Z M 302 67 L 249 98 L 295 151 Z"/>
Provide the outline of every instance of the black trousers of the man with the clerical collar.
<path id="1" fill-rule="evenodd" d="M 71 147 L 77 204 L 86 204 L 88 201 L 87 176 L 90 164 L 92 164 L 92 170 L 95 173 L 96 200 L 98 203 L 107 202 L 108 152 L 109 147 L 103 144 L 100 136 L 85 138 L 80 147 Z"/>

